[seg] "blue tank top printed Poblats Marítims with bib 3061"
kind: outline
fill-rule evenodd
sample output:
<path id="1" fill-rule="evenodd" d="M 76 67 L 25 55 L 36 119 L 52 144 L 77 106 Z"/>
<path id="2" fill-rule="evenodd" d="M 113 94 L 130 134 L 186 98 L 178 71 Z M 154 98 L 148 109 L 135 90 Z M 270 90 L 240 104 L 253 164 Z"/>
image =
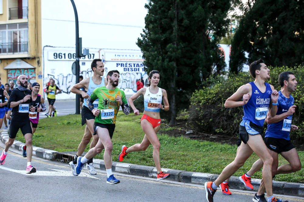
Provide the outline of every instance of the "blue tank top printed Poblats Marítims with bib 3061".
<path id="1" fill-rule="evenodd" d="M 266 91 L 262 93 L 254 82 L 250 82 L 252 94 L 247 102 L 243 105 L 244 121 L 250 121 L 258 126 L 263 127 L 264 121 L 268 112 L 269 103 L 271 101 L 271 87 L 265 82 Z"/>

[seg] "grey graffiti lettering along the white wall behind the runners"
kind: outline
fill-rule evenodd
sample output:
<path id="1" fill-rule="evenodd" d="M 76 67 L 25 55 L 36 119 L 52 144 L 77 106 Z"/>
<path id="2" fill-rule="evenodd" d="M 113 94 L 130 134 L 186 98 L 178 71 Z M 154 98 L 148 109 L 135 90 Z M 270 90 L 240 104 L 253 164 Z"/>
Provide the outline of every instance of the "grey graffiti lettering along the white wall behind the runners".
<path id="1" fill-rule="evenodd" d="M 104 78 L 105 75 L 107 75 L 107 70 L 105 71 L 104 74 Z M 91 69 L 88 69 L 86 71 L 81 71 L 80 75 L 83 76 L 83 78 L 88 78 L 90 76 L 93 75 L 93 71 Z M 142 73 L 121 73 L 120 74 L 120 78 L 119 78 L 119 84 L 118 84 L 118 88 L 122 89 L 122 90 L 132 90 L 132 92 L 136 92 L 136 80 L 140 79 L 141 77 L 143 77 L 143 80 L 145 82 L 145 85 L 147 85 L 148 83 L 148 76 L 146 73 L 142 74 Z M 70 94 L 71 93 L 71 88 L 74 86 L 74 84 L 76 83 L 76 76 L 73 74 L 58 74 L 58 75 L 54 75 L 54 74 L 47 74 L 47 77 L 44 78 L 44 84 L 47 83 L 49 81 L 49 78 L 53 78 L 55 80 L 55 84 L 62 90 L 63 93 L 66 94 Z"/>

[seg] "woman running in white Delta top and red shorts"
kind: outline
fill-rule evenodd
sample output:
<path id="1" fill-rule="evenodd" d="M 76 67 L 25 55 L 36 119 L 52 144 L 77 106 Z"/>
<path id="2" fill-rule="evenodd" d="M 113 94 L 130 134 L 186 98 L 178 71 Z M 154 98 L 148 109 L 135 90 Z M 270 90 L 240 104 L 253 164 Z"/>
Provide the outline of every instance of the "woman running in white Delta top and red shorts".
<path id="1" fill-rule="evenodd" d="M 152 70 L 149 73 L 149 84 L 147 88 L 141 88 L 129 99 L 129 104 L 134 111 L 135 115 L 139 115 L 139 111 L 135 108 L 133 101 L 138 98 L 140 95 L 144 96 L 144 107 L 143 117 L 141 118 L 140 125 L 145 132 L 143 141 L 140 144 L 134 144 L 131 147 L 122 146 L 122 151 L 118 156 L 119 161 L 123 161 L 123 158 L 132 151 L 144 151 L 150 144 L 153 146 L 153 160 L 157 169 L 157 180 L 162 180 L 166 177 L 169 177 L 170 174 L 164 173 L 161 170 L 161 163 L 159 160 L 159 149 L 161 144 L 156 135 L 157 131 L 161 127 L 161 117 L 159 111 L 169 110 L 169 102 L 167 98 L 166 90 L 157 87 L 159 82 L 160 74 L 156 70 Z M 163 100 L 164 105 L 161 104 Z"/>

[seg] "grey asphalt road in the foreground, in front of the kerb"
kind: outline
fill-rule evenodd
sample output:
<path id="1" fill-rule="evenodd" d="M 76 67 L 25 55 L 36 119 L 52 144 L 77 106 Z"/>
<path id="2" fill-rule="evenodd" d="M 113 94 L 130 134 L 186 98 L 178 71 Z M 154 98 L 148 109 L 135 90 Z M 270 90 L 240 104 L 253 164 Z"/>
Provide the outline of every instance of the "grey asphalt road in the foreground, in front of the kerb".
<path id="1" fill-rule="evenodd" d="M 4 144 L 0 142 L 0 151 Z M 4 165 L 0 165 L 0 201 L 205 201 L 203 186 L 114 173 L 121 183 L 107 184 L 105 171 L 89 175 L 86 170 L 73 176 L 68 164 L 33 157 L 37 172 L 25 174 L 26 158 L 10 148 Z M 85 168 L 84 168 L 85 169 Z M 232 190 L 215 201 L 252 201 L 254 192 Z M 282 196 L 281 196 L 282 198 Z M 283 196 L 285 200 L 304 201 Z"/>

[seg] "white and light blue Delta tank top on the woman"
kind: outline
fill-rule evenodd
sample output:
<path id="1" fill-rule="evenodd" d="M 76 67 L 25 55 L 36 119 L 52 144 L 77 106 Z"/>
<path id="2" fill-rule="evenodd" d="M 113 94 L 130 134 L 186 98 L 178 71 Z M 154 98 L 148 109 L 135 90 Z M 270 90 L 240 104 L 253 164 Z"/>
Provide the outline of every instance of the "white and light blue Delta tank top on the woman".
<path id="1" fill-rule="evenodd" d="M 161 104 L 163 94 L 161 88 L 158 88 L 157 94 L 150 92 L 149 87 L 146 88 L 146 93 L 143 96 L 145 111 L 155 111 L 159 112 L 160 108 L 157 107 L 157 104 Z"/>

